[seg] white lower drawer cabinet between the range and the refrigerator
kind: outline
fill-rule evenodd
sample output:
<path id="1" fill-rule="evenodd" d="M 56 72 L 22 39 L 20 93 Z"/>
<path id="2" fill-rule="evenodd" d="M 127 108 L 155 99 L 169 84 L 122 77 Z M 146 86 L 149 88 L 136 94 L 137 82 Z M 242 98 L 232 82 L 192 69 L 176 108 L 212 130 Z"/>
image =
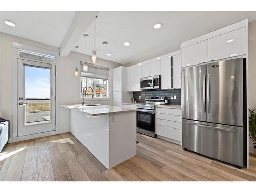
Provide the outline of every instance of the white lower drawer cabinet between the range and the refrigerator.
<path id="1" fill-rule="evenodd" d="M 156 107 L 156 134 L 181 141 L 181 109 Z"/>

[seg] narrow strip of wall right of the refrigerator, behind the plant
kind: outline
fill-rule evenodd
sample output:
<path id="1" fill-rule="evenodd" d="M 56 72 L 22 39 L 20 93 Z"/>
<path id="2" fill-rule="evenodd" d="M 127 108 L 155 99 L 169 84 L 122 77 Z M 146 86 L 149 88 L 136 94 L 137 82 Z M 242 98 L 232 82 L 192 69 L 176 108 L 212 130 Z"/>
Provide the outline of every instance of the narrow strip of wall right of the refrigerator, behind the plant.
<path id="1" fill-rule="evenodd" d="M 256 108 L 256 20 L 248 24 L 248 71 L 249 108 Z M 249 151 L 253 153 L 253 142 L 251 139 Z"/>

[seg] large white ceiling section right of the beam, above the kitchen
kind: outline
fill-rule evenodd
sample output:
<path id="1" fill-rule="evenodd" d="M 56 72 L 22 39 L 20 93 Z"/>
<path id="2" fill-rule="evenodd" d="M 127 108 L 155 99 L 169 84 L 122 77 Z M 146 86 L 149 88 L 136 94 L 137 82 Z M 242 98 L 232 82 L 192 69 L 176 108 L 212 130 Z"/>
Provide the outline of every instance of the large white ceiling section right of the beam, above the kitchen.
<path id="1" fill-rule="evenodd" d="M 214 31 L 245 18 L 256 19 L 256 12 L 188 11 L 101 11 L 96 20 L 96 50 L 99 58 L 121 64 L 176 46 L 181 42 Z M 155 23 L 162 23 L 154 29 Z M 87 54 L 93 50 L 93 25 L 87 29 Z M 108 41 L 106 46 L 102 41 Z M 126 47 L 123 42 L 130 41 Z M 84 37 L 73 51 L 84 53 Z M 112 56 L 106 56 L 112 53 Z"/>

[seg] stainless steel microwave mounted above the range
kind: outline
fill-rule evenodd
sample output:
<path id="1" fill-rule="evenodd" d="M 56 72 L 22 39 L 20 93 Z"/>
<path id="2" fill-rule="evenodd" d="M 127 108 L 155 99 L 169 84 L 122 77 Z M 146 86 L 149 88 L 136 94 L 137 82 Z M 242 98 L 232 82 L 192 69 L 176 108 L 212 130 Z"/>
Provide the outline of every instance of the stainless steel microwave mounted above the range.
<path id="1" fill-rule="evenodd" d="M 160 75 L 143 77 L 140 79 L 141 90 L 160 89 L 161 88 L 160 85 L 161 85 Z"/>

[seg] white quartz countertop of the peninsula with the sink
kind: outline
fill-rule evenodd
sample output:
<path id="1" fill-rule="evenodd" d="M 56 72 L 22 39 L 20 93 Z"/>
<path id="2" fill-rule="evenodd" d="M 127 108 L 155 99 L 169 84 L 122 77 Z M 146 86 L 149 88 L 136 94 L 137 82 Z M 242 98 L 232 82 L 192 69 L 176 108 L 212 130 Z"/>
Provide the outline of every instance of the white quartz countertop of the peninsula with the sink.
<path id="1" fill-rule="evenodd" d="M 120 106 L 95 105 L 97 106 L 86 106 L 81 104 L 62 104 L 61 106 L 67 109 L 77 110 L 91 116 L 137 111 L 137 109 L 122 108 Z"/>

